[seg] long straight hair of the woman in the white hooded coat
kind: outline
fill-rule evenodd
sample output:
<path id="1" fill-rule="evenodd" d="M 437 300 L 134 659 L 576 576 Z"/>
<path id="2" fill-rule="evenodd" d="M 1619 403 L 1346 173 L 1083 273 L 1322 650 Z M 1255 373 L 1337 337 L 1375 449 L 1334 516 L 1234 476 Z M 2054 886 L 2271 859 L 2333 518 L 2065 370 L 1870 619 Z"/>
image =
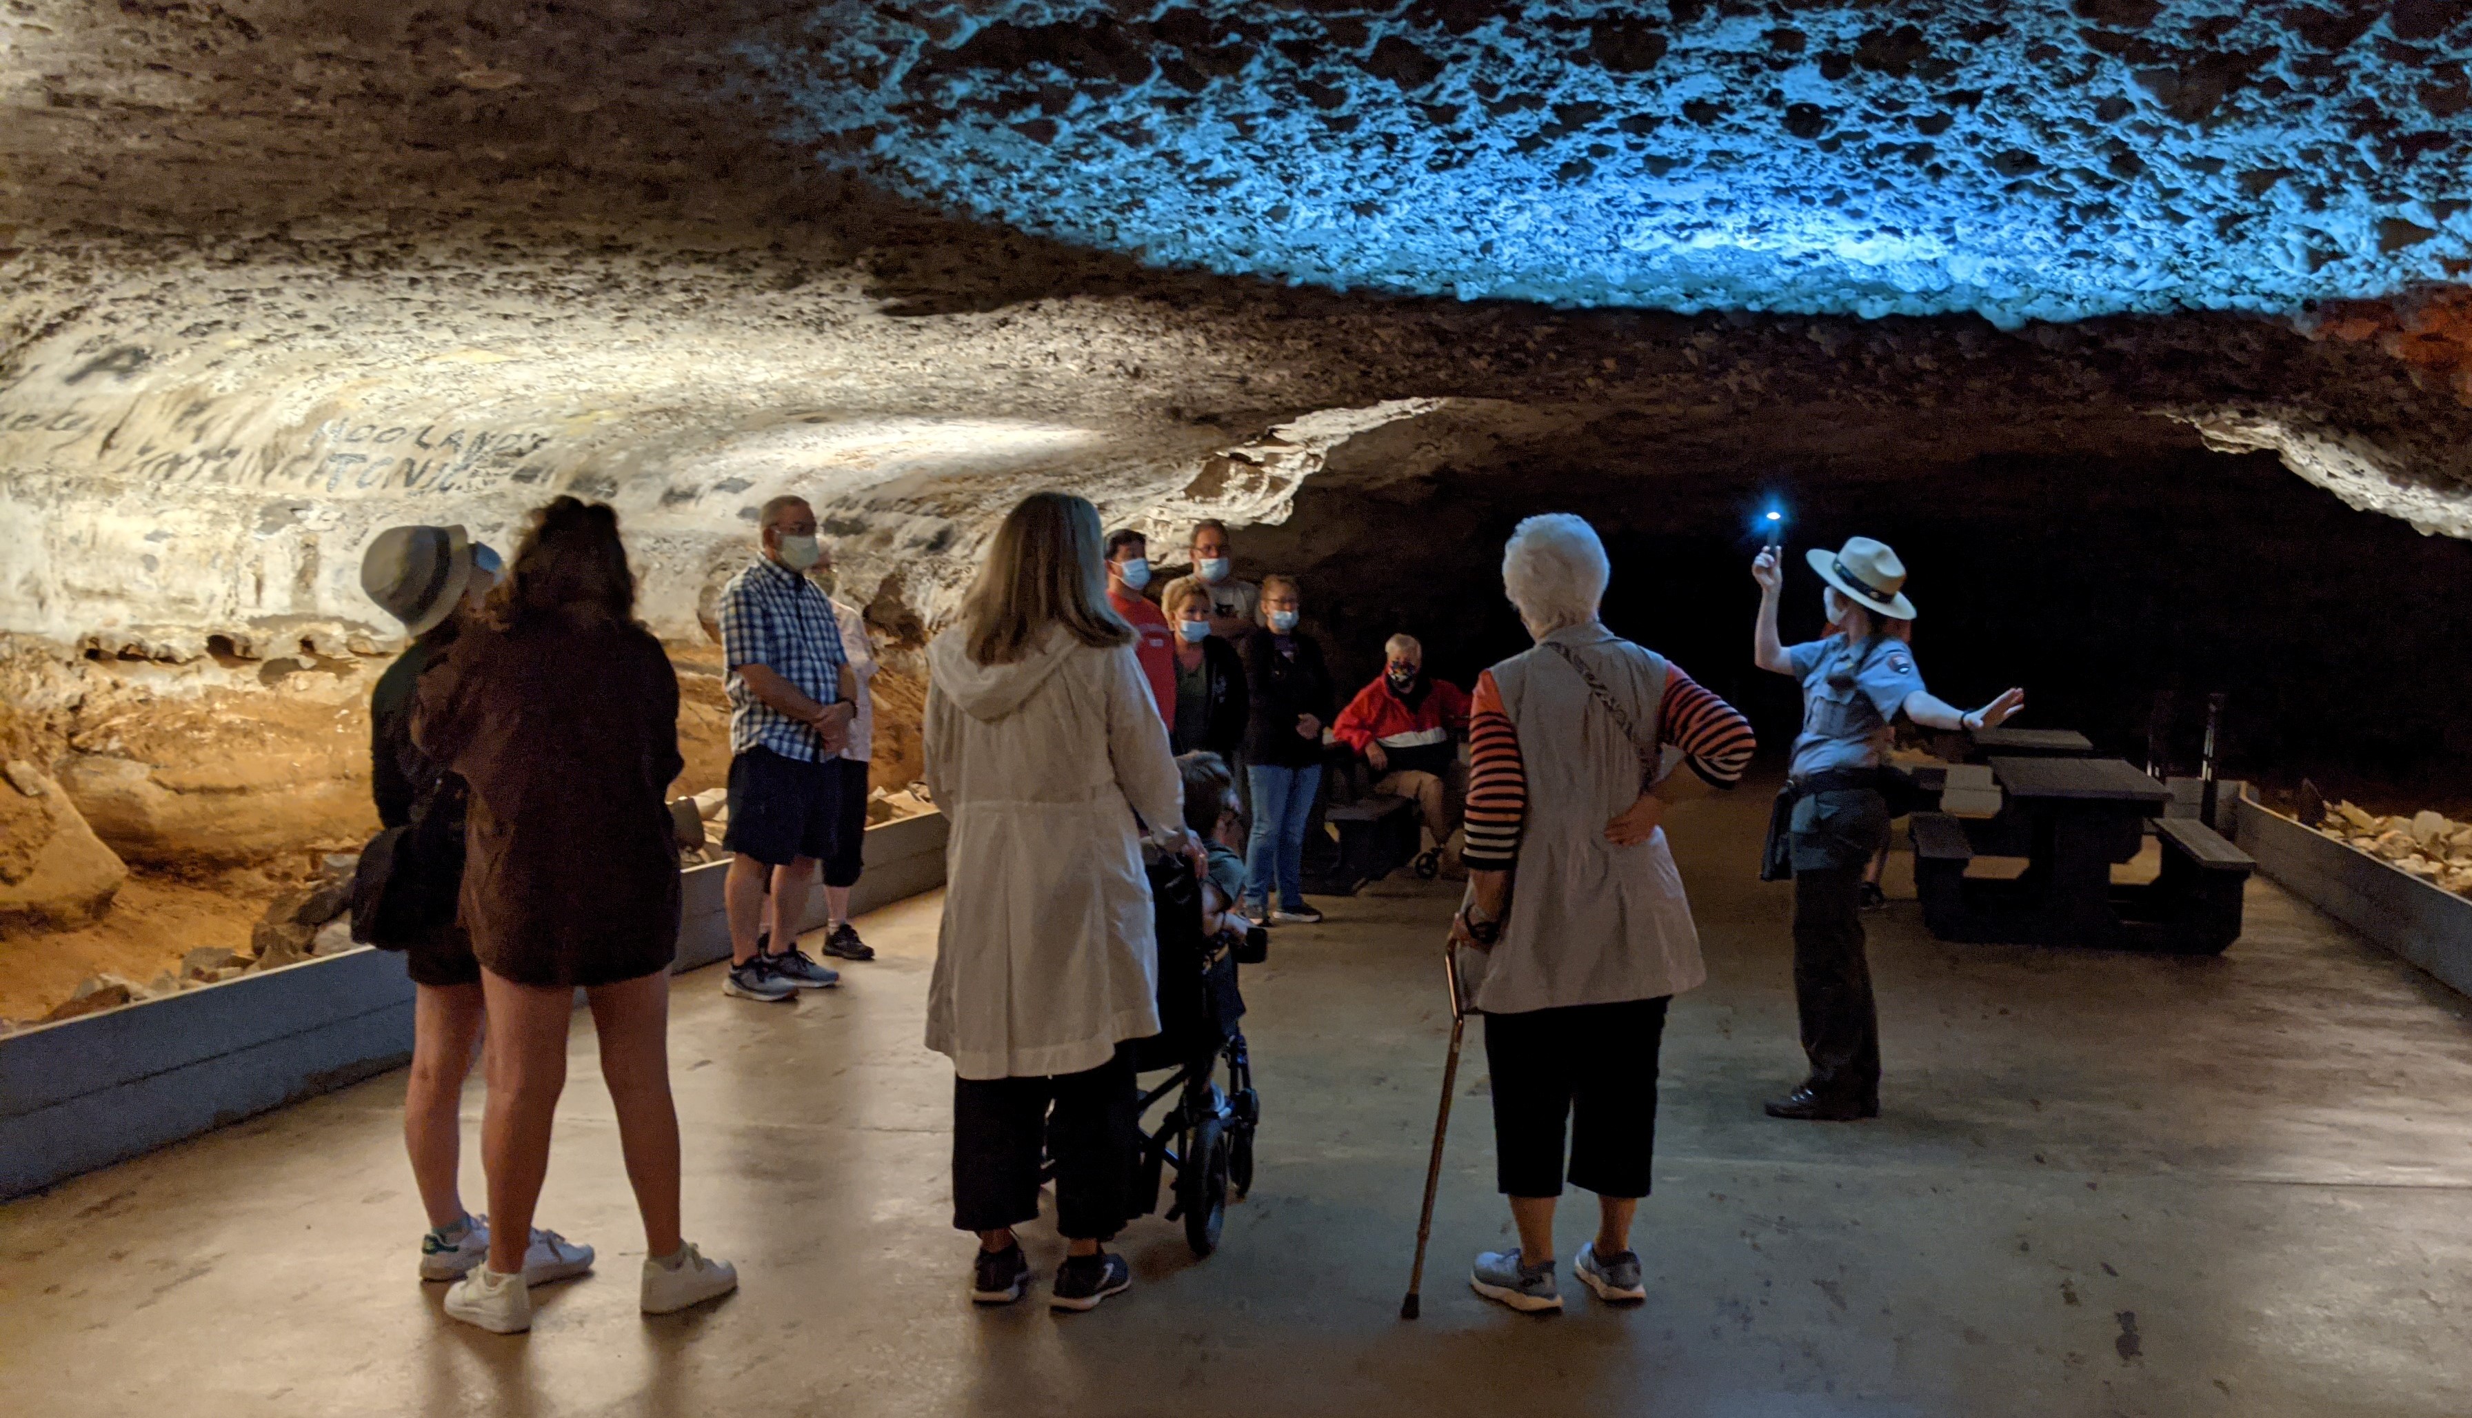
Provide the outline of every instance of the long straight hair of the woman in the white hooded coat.
<path id="1" fill-rule="evenodd" d="M 1098 509 L 1068 492 L 1033 492 L 1004 516 L 962 598 L 962 635 L 979 665 L 1011 665 L 1048 625 L 1083 645 L 1132 645 L 1107 608 Z"/>

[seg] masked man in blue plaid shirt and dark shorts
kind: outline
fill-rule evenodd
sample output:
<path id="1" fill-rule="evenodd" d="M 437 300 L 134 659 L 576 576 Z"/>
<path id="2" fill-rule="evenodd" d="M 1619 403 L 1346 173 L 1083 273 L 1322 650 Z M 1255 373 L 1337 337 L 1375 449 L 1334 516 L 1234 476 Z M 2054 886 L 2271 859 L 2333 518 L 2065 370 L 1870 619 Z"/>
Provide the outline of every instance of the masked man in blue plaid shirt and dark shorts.
<path id="1" fill-rule="evenodd" d="M 764 553 L 722 590 L 732 753 L 722 847 L 734 852 L 722 892 L 729 907 L 722 993 L 786 1001 L 840 981 L 798 949 L 798 921 L 816 862 L 833 855 L 840 776 L 850 771 L 840 751 L 858 704 L 843 687 L 848 652 L 833 603 L 806 578 L 823 556 L 816 509 L 776 497 L 764 504 L 759 536 Z M 766 931 L 776 946 L 769 954 L 759 941 Z"/>

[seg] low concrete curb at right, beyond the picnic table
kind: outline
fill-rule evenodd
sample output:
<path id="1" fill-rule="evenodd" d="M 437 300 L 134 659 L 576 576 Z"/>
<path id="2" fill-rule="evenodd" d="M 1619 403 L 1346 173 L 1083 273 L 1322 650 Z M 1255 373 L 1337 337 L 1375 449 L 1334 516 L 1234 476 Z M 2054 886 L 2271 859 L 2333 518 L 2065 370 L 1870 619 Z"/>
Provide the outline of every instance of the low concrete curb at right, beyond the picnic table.
<path id="1" fill-rule="evenodd" d="M 2311 907 L 2472 996 L 2472 902 L 2240 800 L 2240 847 Z"/>

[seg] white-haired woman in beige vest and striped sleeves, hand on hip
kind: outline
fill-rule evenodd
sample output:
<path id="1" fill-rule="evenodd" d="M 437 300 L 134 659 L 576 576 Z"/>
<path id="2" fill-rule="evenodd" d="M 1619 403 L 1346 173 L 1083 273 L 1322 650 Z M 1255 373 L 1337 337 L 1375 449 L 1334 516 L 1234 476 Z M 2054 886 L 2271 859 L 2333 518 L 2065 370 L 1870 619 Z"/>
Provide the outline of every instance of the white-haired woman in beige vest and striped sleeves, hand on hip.
<path id="1" fill-rule="evenodd" d="M 1656 1047 L 1666 1003 L 1708 976 L 1659 828 L 1681 781 L 1659 763 L 1678 756 L 1688 781 L 1730 788 L 1753 751 L 1743 714 L 1597 620 L 1607 571 L 1587 521 L 1523 521 L 1503 588 L 1535 647 L 1476 682 L 1468 902 L 1451 944 L 1486 1015 L 1496 1171 L 1520 1245 L 1478 1255 L 1468 1282 L 1513 1309 L 1562 1307 L 1565 1124 L 1570 1183 L 1597 1193 L 1572 1270 L 1602 1299 L 1646 1299 L 1632 1213 L 1649 1193 Z"/>

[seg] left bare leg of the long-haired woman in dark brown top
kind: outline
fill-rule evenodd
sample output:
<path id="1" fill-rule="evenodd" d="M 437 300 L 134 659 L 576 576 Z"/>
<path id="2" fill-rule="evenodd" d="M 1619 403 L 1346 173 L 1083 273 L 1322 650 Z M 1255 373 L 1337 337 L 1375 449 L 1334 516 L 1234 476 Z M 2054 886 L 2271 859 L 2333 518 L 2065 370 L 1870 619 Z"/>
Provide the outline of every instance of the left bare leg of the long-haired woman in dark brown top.
<path id="1" fill-rule="evenodd" d="M 489 1107 L 480 1161 L 489 1171 L 489 1270 L 517 1275 L 531 1245 L 531 1208 L 549 1176 L 549 1126 L 566 1087 L 566 1020 L 576 993 L 519 986 L 482 966 L 489 996 Z"/>

